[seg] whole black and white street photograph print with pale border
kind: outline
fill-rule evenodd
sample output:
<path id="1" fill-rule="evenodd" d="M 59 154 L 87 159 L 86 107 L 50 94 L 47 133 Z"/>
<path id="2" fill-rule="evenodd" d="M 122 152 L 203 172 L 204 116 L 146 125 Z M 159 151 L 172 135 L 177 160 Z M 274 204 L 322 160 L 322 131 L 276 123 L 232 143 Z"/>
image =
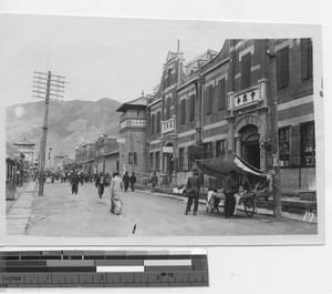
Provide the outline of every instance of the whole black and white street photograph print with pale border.
<path id="1" fill-rule="evenodd" d="M 7 242 L 324 242 L 320 26 L 0 21 Z"/>

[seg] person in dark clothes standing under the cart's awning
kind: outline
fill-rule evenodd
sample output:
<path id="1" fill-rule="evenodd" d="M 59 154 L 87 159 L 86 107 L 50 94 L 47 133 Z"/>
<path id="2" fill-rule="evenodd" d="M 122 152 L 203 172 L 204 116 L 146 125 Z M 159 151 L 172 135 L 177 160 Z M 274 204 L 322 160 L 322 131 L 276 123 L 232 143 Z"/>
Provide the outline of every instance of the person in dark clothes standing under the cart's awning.
<path id="1" fill-rule="evenodd" d="M 229 175 L 225 178 L 225 202 L 224 202 L 224 214 L 225 219 L 229 219 L 234 215 L 236 200 L 235 193 L 238 192 L 238 181 L 237 181 L 237 173 L 231 171 Z"/>

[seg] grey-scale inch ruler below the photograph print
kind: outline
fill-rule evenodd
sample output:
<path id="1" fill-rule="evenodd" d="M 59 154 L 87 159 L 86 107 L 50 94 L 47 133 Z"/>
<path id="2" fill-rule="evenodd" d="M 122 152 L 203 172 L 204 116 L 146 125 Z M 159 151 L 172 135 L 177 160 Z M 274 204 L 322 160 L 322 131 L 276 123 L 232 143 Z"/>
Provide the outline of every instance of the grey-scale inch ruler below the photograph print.
<path id="1" fill-rule="evenodd" d="M 6 251 L 0 287 L 208 286 L 205 250 Z"/>

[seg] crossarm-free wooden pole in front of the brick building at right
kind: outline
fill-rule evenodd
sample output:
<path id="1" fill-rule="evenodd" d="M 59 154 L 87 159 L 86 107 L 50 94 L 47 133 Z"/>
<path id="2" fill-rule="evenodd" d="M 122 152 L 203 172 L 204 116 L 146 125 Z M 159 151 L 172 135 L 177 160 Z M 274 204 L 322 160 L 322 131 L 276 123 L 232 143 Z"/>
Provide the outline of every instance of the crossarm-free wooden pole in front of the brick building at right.
<path id="1" fill-rule="evenodd" d="M 277 54 L 276 40 L 268 40 L 268 89 L 270 107 L 270 130 L 271 130 L 271 156 L 272 156 L 272 195 L 273 195 L 273 216 L 282 216 L 281 194 L 280 194 L 280 166 L 279 166 L 279 132 L 278 132 L 278 95 L 277 95 Z"/>

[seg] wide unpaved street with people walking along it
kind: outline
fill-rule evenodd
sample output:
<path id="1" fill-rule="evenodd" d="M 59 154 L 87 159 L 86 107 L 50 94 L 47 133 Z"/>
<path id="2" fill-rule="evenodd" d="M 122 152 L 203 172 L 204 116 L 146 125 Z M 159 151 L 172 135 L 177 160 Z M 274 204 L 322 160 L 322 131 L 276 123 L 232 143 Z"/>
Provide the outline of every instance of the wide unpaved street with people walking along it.
<path id="1" fill-rule="evenodd" d="M 27 234 L 30 236 L 125 237 L 132 236 L 216 236 L 315 234 L 317 224 L 274 220 L 260 215 L 247 217 L 238 212 L 232 219 L 207 213 L 200 204 L 197 216 L 185 215 L 185 202 L 149 192 L 123 193 L 123 212 L 110 212 L 110 191 L 102 199 L 94 184 L 80 185 L 71 194 L 69 183 L 45 183 L 44 196 L 35 196 Z"/>

